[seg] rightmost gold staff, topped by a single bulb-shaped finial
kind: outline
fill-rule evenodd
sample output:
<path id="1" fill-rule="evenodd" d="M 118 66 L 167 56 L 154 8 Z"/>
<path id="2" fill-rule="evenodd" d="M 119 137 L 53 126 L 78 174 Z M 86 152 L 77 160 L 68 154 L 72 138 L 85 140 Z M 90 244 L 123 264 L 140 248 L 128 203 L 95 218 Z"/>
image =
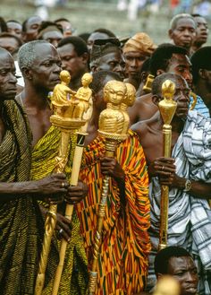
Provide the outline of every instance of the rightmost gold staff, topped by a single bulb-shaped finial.
<path id="1" fill-rule="evenodd" d="M 173 100 L 174 92 L 175 84 L 171 80 L 166 80 L 165 82 L 163 82 L 162 94 L 164 100 L 161 100 L 159 102 L 158 108 L 164 121 L 164 154 L 166 158 L 171 157 L 172 126 L 170 124 L 177 108 L 177 103 Z M 168 198 L 169 187 L 161 186 L 159 249 L 167 246 Z"/>

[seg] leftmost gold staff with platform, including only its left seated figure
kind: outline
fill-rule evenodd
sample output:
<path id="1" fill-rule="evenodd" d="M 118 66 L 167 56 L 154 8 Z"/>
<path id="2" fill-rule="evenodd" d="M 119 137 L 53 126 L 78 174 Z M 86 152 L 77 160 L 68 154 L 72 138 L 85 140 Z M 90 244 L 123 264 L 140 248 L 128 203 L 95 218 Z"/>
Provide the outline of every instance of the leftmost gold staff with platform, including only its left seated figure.
<path id="1" fill-rule="evenodd" d="M 67 86 L 71 80 L 70 74 L 67 71 L 60 73 L 61 83 L 55 86 L 52 96 L 52 105 L 54 115 L 50 117 L 52 125 L 57 126 L 61 130 L 61 141 L 59 145 L 58 156 L 55 157 L 55 172 L 61 173 L 68 161 L 70 136 L 73 131 L 85 125 L 86 121 L 70 117 L 70 111 L 77 104 L 77 100 L 69 100 L 68 94 L 74 92 Z M 51 204 L 49 211 L 46 214 L 45 234 L 42 245 L 40 262 L 38 265 L 38 277 L 35 286 L 35 295 L 41 295 L 46 276 L 47 258 L 50 252 L 51 239 L 55 231 L 57 205 Z"/>

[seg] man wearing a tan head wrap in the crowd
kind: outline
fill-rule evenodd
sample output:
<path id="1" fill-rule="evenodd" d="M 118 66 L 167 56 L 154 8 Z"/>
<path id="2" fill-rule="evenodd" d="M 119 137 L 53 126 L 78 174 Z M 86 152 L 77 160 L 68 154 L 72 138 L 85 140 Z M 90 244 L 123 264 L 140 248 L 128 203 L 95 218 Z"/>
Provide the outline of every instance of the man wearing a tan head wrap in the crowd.
<path id="1" fill-rule="evenodd" d="M 153 40 L 145 33 L 137 33 L 129 39 L 123 47 L 123 56 L 125 58 L 125 73 L 128 79 L 125 82 L 131 83 L 136 91 L 141 82 L 141 68 L 146 59 L 152 55 L 156 45 Z"/>

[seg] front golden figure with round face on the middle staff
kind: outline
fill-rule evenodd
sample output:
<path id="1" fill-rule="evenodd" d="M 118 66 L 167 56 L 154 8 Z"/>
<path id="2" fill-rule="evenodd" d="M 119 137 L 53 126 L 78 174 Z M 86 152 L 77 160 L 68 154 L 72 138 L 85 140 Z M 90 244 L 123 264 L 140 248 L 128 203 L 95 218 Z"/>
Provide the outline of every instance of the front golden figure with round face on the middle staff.
<path id="1" fill-rule="evenodd" d="M 107 108 L 99 116 L 99 130 L 105 133 L 122 134 L 124 116 L 120 109 L 127 88 L 123 82 L 109 81 L 104 87 L 104 100 Z"/>

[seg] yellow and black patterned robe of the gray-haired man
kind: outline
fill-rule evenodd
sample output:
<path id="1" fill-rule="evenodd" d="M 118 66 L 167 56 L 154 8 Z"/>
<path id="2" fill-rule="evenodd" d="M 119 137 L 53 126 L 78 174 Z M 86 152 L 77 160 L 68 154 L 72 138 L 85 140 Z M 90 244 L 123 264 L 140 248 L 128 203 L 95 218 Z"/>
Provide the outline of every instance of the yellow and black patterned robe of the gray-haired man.
<path id="1" fill-rule="evenodd" d="M 44 178 L 55 168 L 55 156 L 58 155 L 61 133 L 58 128 L 51 126 L 48 132 L 38 141 L 32 153 L 31 179 Z M 69 148 L 69 160 L 65 168 L 67 178 L 71 176 L 72 157 L 75 138 L 72 136 Z M 72 144 L 73 143 L 73 144 Z M 59 241 L 57 247 L 59 248 Z M 54 277 L 46 285 L 43 295 L 52 292 Z M 87 258 L 84 251 L 83 240 L 80 237 L 80 223 L 77 214 L 72 215 L 72 238 L 68 244 L 63 275 L 59 288 L 59 295 L 84 295 L 87 290 L 88 271 Z"/>

